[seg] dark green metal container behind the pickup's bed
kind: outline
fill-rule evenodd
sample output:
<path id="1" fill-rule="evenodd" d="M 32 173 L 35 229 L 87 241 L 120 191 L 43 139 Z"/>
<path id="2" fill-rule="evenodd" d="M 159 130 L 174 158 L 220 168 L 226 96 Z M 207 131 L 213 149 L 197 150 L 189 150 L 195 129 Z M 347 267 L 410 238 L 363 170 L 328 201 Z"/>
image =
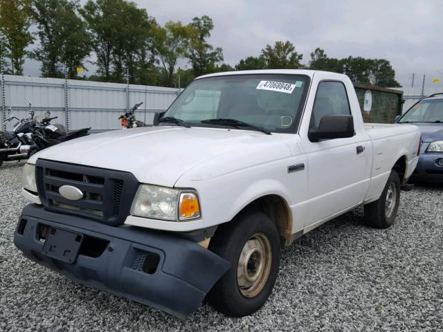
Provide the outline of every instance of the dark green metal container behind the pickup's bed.
<path id="1" fill-rule="evenodd" d="M 393 123 L 401 114 L 403 91 L 354 83 L 364 122 Z"/>

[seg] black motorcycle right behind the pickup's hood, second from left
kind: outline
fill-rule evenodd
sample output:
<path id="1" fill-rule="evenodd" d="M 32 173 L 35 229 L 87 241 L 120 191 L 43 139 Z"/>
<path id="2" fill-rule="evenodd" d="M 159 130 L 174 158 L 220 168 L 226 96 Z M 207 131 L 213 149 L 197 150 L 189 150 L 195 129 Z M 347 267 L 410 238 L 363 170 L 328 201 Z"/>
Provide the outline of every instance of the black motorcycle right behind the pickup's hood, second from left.
<path id="1" fill-rule="evenodd" d="M 57 119 L 57 116 L 49 118 L 48 115 L 50 113 L 46 112 L 46 118 L 36 119 L 35 121 L 35 130 L 33 131 L 34 144 L 28 151 L 28 158 L 38 151 L 46 149 L 46 147 L 52 147 L 67 140 L 89 135 L 91 127 L 66 132 L 62 124 L 51 124 L 51 120 Z"/>

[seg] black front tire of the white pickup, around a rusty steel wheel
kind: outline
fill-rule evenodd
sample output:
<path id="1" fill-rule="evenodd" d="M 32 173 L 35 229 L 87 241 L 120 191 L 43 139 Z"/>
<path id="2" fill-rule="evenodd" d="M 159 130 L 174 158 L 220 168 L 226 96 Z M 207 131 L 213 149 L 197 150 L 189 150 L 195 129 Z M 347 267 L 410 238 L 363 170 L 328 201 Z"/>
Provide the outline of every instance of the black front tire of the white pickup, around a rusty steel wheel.
<path id="1" fill-rule="evenodd" d="M 256 275 L 259 275 L 257 270 L 268 271 L 267 273 L 263 273 L 263 275 L 266 274 L 267 277 L 261 279 L 259 277 L 257 280 L 261 280 L 261 282 L 257 282 L 256 287 L 251 286 L 240 289 L 239 279 L 237 279 L 237 275 L 241 274 L 238 273 L 238 271 L 241 270 L 239 266 L 242 265 L 239 264 L 240 255 L 243 252 L 242 259 L 246 262 L 243 264 L 244 271 L 248 271 L 248 273 L 243 276 L 247 275 L 250 277 L 249 264 L 251 259 L 244 258 L 248 257 L 244 255 L 244 250 L 248 248 L 246 250 L 252 252 L 251 243 L 260 243 L 260 241 L 267 243 L 266 248 L 269 248 L 269 250 L 265 251 L 271 254 L 267 255 L 267 257 L 271 257 L 271 260 L 268 261 L 267 264 L 259 265 L 260 267 L 264 266 L 264 268 L 257 268 L 256 260 L 251 258 L 253 260 L 251 271 L 253 273 L 255 272 Z M 246 246 L 246 242 L 248 242 L 249 247 Z M 252 246 L 252 248 L 254 247 Z M 260 248 L 264 248 L 264 246 Z M 262 212 L 245 212 L 239 214 L 230 223 L 219 226 L 210 241 L 209 249 L 228 260 L 231 264 L 228 272 L 219 279 L 210 293 L 208 293 L 208 302 L 215 310 L 225 315 L 242 317 L 261 308 L 271 294 L 280 265 L 280 237 L 275 223 L 273 223 L 271 218 Z M 254 257 L 254 255 L 255 252 L 251 257 Z M 257 256 L 259 257 L 257 261 L 261 261 L 260 255 Z M 266 259 L 264 259 L 264 261 L 266 261 Z M 246 293 L 246 295 L 244 293 Z M 257 294 L 254 295 L 254 293 Z"/>

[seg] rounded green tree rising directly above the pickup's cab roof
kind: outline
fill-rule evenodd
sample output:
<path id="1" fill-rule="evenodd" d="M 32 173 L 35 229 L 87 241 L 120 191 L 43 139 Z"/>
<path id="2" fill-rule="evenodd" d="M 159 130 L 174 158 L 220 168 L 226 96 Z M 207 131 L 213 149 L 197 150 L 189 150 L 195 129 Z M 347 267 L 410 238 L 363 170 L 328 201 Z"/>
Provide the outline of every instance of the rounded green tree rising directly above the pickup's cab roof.
<path id="1" fill-rule="evenodd" d="M 274 46 L 266 45 L 262 49 L 262 56 L 266 61 L 266 67 L 271 69 L 300 68 L 302 54 L 298 54 L 296 46 L 291 42 L 275 42 Z"/>

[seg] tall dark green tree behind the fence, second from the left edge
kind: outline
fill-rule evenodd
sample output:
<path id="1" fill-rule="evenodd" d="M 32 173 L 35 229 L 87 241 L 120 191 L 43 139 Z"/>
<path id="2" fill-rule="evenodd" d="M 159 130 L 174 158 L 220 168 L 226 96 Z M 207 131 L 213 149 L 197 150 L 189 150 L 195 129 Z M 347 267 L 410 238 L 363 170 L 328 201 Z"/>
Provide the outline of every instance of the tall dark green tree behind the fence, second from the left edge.
<path id="1" fill-rule="evenodd" d="M 40 46 L 33 58 L 42 62 L 42 75 L 62 76 L 66 66 L 68 77 L 77 77 L 77 68 L 91 51 L 86 24 L 77 15 L 78 1 L 35 0 L 34 19 Z"/>

